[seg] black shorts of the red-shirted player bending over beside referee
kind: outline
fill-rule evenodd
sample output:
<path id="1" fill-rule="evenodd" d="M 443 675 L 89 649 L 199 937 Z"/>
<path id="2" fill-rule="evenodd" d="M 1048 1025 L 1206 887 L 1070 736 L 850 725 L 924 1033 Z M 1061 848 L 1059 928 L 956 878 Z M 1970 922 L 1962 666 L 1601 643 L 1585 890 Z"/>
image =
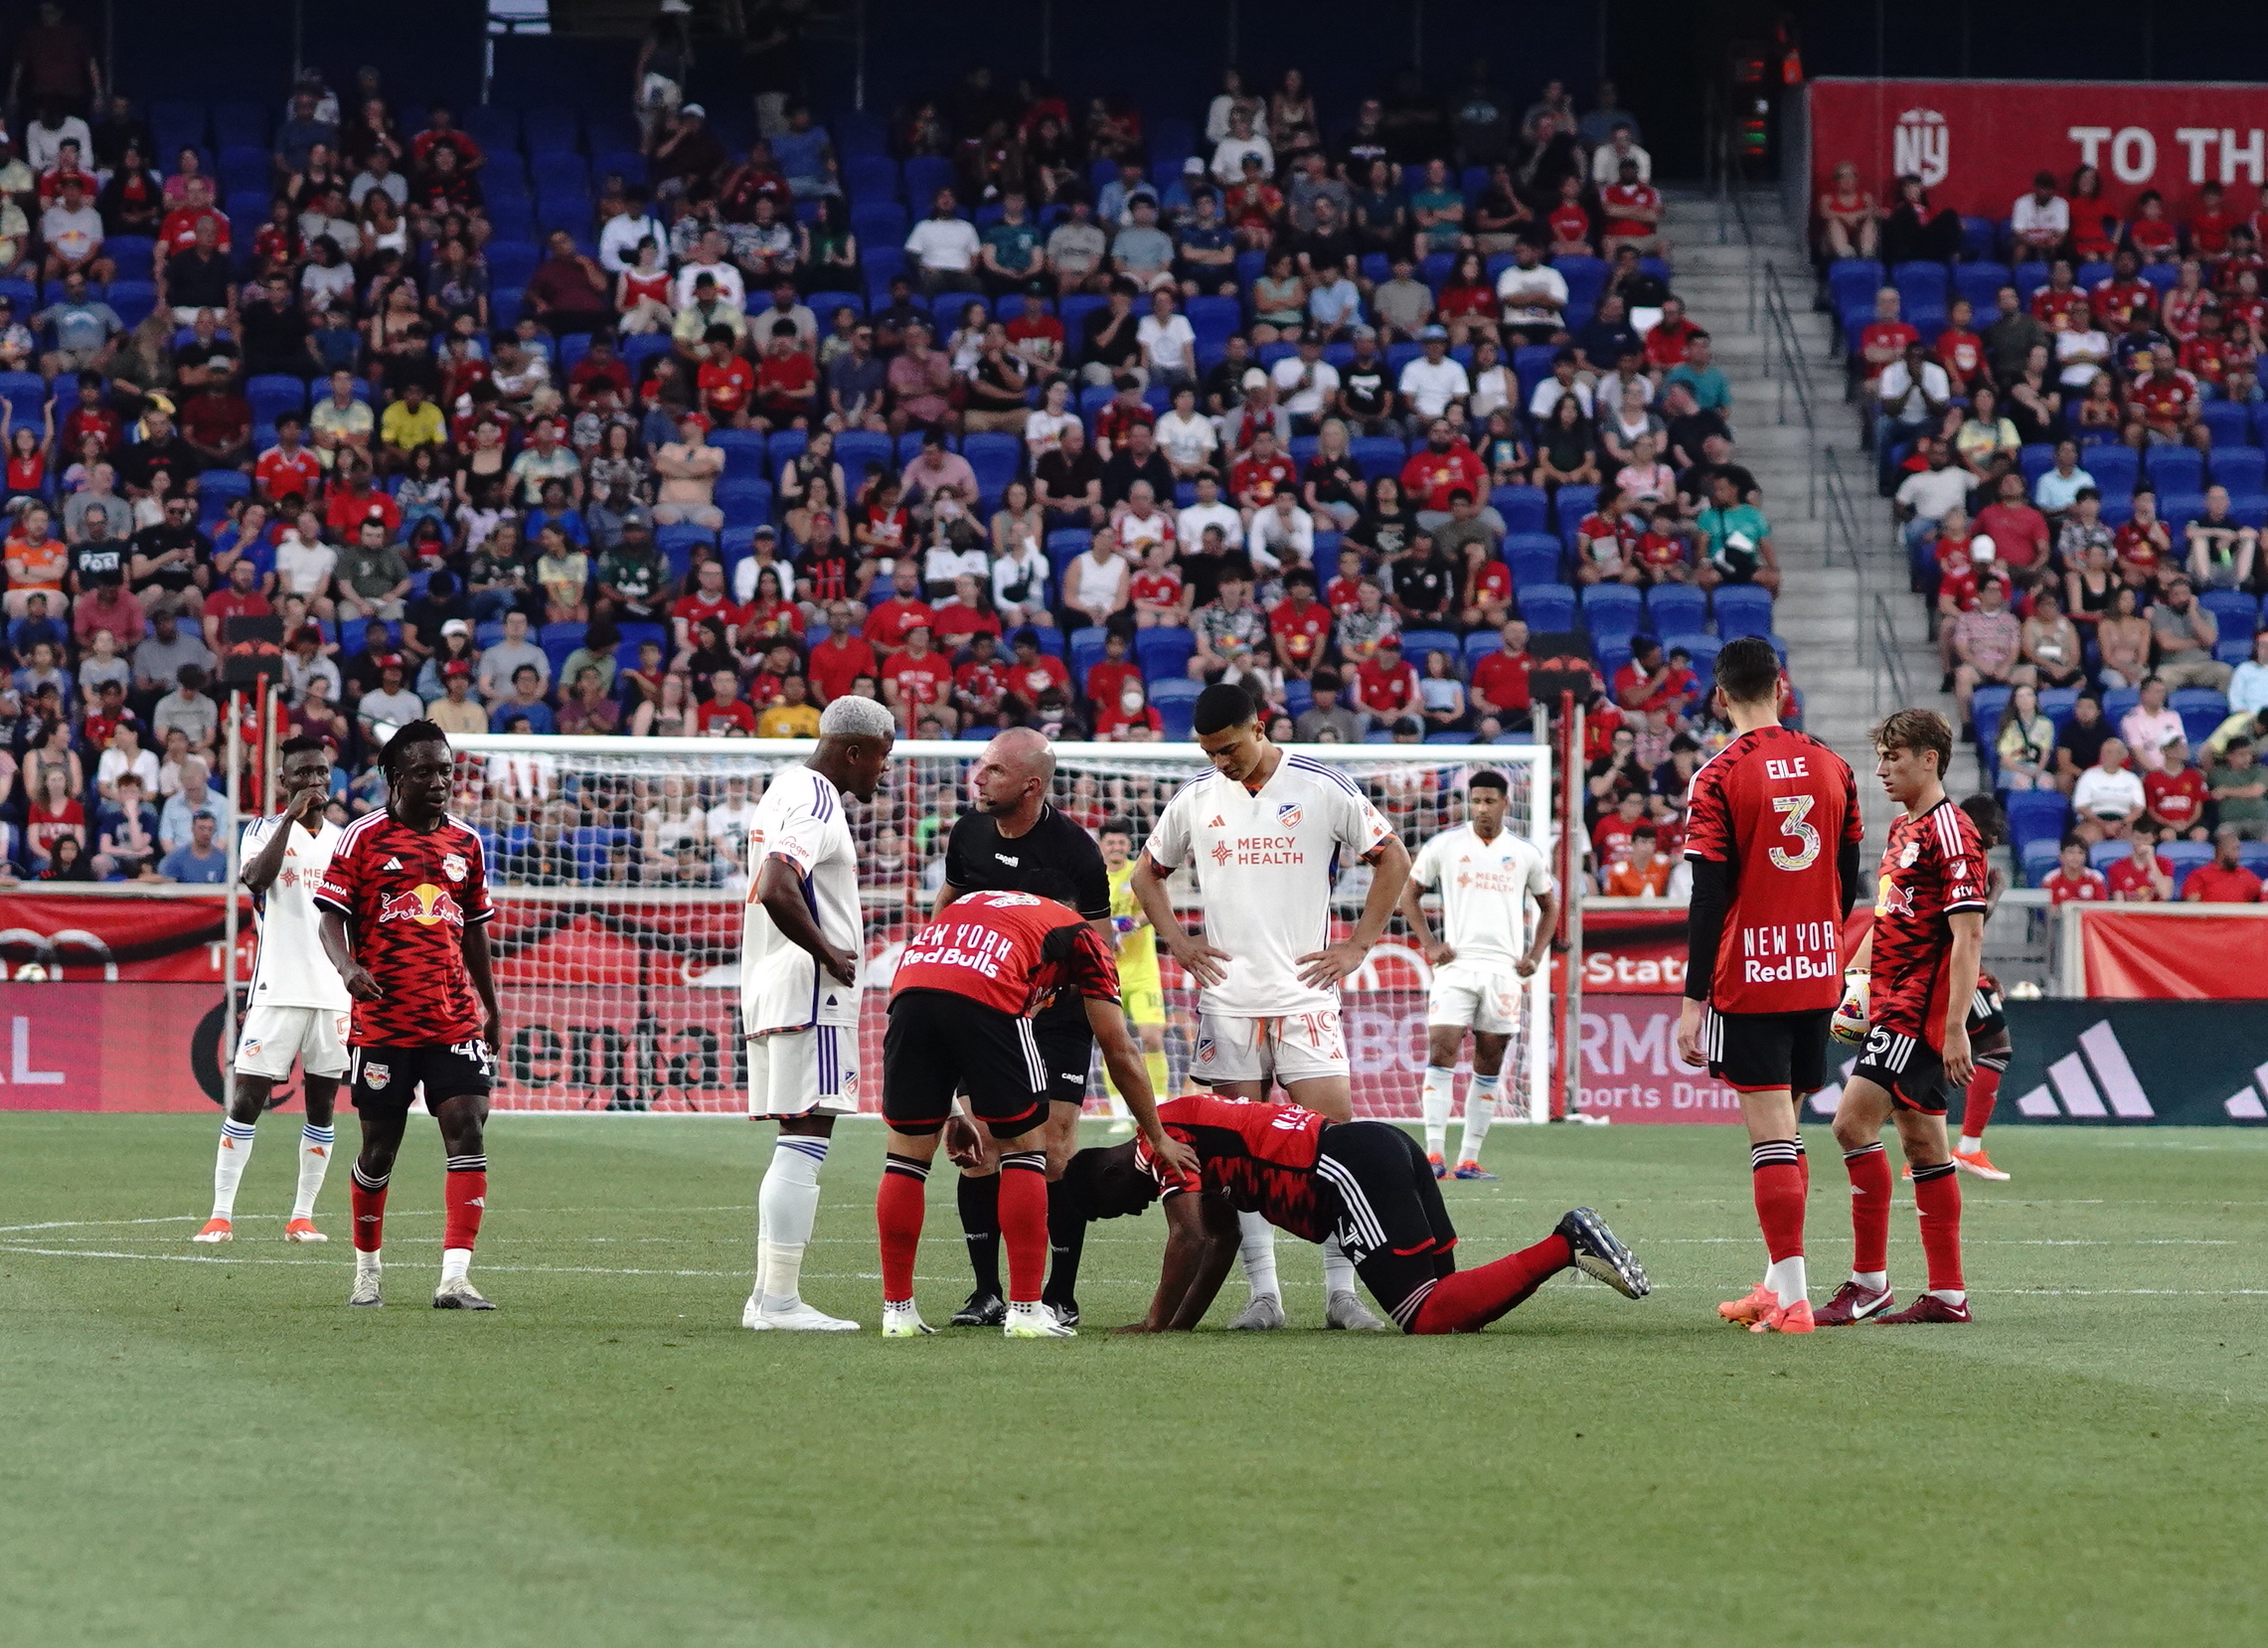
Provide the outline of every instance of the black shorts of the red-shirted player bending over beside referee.
<path id="1" fill-rule="evenodd" d="M 882 1036 L 882 1120 L 900 1133 L 934 1133 L 953 1115 L 955 1093 L 968 1095 L 968 1113 L 993 1138 L 1048 1120 L 1048 1068 L 1032 1020 L 953 991 L 905 991 L 889 1004 Z"/>

